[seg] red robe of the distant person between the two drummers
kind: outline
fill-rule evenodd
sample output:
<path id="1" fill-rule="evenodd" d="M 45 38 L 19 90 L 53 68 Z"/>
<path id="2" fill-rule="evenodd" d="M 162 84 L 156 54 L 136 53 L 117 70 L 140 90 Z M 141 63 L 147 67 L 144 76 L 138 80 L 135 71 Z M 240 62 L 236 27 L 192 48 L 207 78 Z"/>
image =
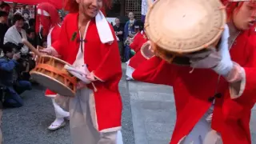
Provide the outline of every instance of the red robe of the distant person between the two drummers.
<path id="1" fill-rule="evenodd" d="M 141 64 L 142 62 L 146 61 L 147 59 L 144 58 L 142 56 L 142 52 L 141 52 L 141 48 L 142 45 L 147 42 L 147 38 L 144 35 L 144 33 L 140 33 L 138 32 L 135 36 L 134 36 L 134 42 L 132 42 L 130 44 L 130 48 L 132 50 L 134 50 L 136 52 L 136 54 L 134 55 L 134 57 L 130 58 L 130 62 L 129 65 L 130 67 L 136 69 L 138 67 L 139 64 Z"/>

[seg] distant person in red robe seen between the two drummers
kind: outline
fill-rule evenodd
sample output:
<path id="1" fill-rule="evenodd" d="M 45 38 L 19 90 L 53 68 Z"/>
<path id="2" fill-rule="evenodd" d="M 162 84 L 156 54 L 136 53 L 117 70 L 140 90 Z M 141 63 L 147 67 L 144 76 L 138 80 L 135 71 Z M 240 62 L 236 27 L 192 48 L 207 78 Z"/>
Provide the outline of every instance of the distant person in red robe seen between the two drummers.
<path id="1" fill-rule="evenodd" d="M 130 58 L 130 60 L 127 63 L 127 67 L 126 67 L 126 80 L 131 80 L 132 78 L 132 74 L 134 72 L 134 70 L 144 61 L 147 60 L 146 57 L 144 57 L 142 55 L 141 52 L 141 48 L 142 46 L 146 45 L 147 42 L 147 38 L 146 38 L 146 34 L 144 33 L 144 31 L 142 30 L 141 32 L 138 32 L 137 34 L 135 34 L 134 36 L 134 42 L 130 43 L 130 49 L 134 50 L 135 54 L 134 57 Z"/>

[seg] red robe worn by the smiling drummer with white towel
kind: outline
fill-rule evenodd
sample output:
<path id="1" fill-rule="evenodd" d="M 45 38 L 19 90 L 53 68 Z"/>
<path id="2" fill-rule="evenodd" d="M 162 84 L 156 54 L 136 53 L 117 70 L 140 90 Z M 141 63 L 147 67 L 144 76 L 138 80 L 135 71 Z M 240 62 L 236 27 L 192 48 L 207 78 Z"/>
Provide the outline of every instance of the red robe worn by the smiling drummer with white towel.
<path id="1" fill-rule="evenodd" d="M 114 30 L 110 26 L 112 34 Z M 74 35 L 76 36 L 74 37 Z M 80 48 L 78 14 L 68 14 L 62 24 L 60 38 L 52 45 L 62 60 L 73 64 Z M 115 37 L 114 37 L 115 38 Z M 122 115 L 122 98 L 118 83 L 122 78 L 122 67 L 118 42 L 103 44 L 100 41 L 95 19 L 90 21 L 86 32 L 84 61 L 90 72 L 101 81 L 94 82 L 98 89 L 94 91 L 98 131 L 120 128 Z M 87 85 L 94 90 L 91 84 Z"/>

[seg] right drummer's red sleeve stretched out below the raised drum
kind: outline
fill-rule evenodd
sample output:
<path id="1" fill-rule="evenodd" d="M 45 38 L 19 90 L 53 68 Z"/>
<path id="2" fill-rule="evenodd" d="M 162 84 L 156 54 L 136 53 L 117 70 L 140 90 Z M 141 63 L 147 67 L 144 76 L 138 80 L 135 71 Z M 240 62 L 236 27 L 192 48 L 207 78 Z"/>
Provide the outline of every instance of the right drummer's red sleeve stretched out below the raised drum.
<path id="1" fill-rule="evenodd" d="M 173 86 L 177 77 L 176 75 L 177 67 L 168 64 L 161 58 L 153 57 L 142 62 L 142 64 L 134 70 L 133 78 L 141 82 Z"/>

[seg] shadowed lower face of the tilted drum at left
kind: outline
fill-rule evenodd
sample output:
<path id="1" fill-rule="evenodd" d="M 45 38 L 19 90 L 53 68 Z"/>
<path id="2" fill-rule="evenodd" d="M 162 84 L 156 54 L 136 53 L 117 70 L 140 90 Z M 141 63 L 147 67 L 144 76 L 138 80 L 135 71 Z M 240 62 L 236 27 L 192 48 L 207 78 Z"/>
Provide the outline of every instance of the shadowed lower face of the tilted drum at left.
<path id="1" fill-rule="evenodd" d="M 30 73 L 31 77 L 42 86 L 45 86 L 51 91 L 54 91 L 57 94 L 61 94 L 62 96 L 74 97 L 74 92 L 61 82 L 50 78 L 46 74 L 38 73 L 36 71 L 32 71 Z"/>

